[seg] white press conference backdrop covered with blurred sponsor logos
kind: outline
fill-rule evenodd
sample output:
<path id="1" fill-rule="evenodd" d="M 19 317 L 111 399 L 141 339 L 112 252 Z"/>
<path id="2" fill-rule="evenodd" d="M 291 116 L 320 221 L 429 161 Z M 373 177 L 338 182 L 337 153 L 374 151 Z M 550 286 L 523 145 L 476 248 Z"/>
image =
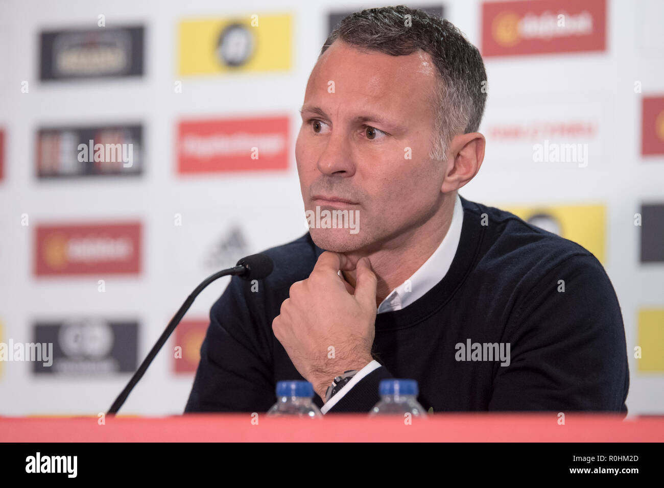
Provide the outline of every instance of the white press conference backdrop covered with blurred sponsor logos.
<path id="1" fill-rule="evenodd" d="M 331 27 L 376 6 L 0 3 L 0 344 L 14 345 L 0 414 L 106 411 L 195 285 L 306 232 L 307 77 Z M 664 412 L 664 3 L 410 6 L 452 21 L 487 67 L 486 156 L 461 195 L 600 259 L 629 412 Z M 183 411 L 227 283 L 199 296 L 121 412 Z M 21 361 L 28 343 L 52 343 L 52 364 Z"/>

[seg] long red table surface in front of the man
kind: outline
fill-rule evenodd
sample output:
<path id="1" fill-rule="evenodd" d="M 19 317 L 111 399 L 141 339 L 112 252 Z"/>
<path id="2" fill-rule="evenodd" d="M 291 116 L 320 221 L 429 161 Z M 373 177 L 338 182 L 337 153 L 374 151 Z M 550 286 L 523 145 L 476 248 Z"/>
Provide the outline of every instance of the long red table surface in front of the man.
<path id="1" fill-rule="evenodd" d="M 258 424 L 256 424 L 258 420 Z M 252 423 L 252 421 L 254 423 Z M 433 414 L 426 420 L 335 414 L 321 420 L 265 414 L 169 417 L 0 417 L 0 442 L 664 442 L 664 416 Z"/>

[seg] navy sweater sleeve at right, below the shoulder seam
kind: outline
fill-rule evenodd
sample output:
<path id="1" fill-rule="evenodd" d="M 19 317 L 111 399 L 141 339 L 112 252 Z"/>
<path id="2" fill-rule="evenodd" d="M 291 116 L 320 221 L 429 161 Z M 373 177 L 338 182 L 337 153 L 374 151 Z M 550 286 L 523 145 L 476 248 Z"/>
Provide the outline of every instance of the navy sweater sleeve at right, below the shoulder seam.
<path id="1" fill-rule="evenodd" d="M 613 285 L 592 255 L 575 255 L 530 286 L 503 341 L 489 410 L 627 412 L 629 366 Z"/>

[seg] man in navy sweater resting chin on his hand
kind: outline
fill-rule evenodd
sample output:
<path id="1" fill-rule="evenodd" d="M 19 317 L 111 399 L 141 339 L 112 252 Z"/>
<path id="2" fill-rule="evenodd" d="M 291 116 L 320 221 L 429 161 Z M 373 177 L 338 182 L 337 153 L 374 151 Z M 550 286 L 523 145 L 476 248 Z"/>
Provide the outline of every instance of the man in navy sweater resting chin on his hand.
<path id="1" fill-rule="evenodd" d="M 311 218 L 267 251 L 258 290 L 232 279 L 185 412 L 265 412 L 290 379 L 324 414 L 368 412 L 384 378 L 417 380 L 435 412 L 627 411 L 622 315 L 598 260 L 457 195 L 484 157 L 485 80 L 477 49 L 423 11 L 335 28 L 295 157 L 307 219 L 355 216 L 355 230 Z"/>

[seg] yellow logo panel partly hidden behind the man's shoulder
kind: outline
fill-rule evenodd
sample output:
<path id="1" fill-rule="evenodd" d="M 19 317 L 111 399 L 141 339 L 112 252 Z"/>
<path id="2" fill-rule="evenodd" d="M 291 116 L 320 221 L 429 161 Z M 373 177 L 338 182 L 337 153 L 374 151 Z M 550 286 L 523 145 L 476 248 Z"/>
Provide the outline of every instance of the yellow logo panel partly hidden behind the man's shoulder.
<path id="1" fill-rule="evenodd" d="M 602 263 L 606 258 L 604 205 L 501 206 L 527 222 L 583 246 Z"/>

